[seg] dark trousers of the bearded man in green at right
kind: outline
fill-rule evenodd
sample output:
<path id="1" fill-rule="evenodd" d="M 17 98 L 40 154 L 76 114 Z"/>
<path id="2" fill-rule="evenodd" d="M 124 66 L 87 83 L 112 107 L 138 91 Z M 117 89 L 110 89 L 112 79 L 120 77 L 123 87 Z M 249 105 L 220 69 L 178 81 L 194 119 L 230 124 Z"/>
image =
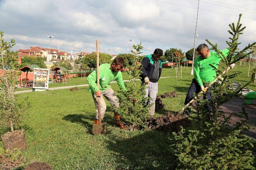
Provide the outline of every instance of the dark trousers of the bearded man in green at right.
<path id="1" fill-rule="evenodd" d="M 200 85 L 198 84 L 198 82 L 196 82 L 196 79 L 193 79 L 190 85 L 190 88 L 188 89 L 188 94 L 186 96 L 184 104 L 185 105 L 188 104 L 193 99 L 193 93 L 198 94 L 200 91 L 201 91 Z M 206 94 L 203 96 L 204 96 L 204 99 L 208 99 L 208 101 L 210 102 L 210 100 L 212 99 L 211 88 L 207 88 Z M 205 108 L 208 109 L 209 111 L 212 110 L 212 106 L 210 104 L 205 106 Z"/>

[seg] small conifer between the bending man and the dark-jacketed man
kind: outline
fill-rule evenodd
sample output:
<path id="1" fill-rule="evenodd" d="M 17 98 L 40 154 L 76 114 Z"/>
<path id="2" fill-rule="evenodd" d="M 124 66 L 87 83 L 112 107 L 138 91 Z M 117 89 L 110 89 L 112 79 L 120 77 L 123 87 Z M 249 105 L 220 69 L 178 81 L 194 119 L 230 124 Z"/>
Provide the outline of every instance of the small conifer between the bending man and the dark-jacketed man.
<path id="1" fill-rule="evenodd" d="M 128 83 L 125 83 L 126 89 L 119 91 L 118 99 L 120 102 L 120 107 L 117 109 L 118 114 L 122 122 L 128 126 L 139 127 L 144 126 L 144 122 L 148 117 L 148 108 L 146 102 L 148 98 L 144 98 L 145 95 L 145 84 L 141 81 L 136 81 L 140 79 L 139 75 L 141 70 L 137 69 L 137 57 L 138 54 L 141 54 L 143 47 L 141 43 L 139 45 L 133 45 L 131 52 L 134 55 L 132 64 L 128 66 L 129 71 L 126 71 L 130 75 L 130 80 Z"/>

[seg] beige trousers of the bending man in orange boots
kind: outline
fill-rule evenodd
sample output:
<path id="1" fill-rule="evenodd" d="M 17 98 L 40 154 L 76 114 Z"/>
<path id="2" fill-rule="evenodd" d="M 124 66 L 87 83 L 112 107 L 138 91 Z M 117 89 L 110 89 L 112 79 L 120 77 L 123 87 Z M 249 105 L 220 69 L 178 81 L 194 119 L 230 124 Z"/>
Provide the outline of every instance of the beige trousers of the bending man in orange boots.
<path id="1" fill-rule="evenodd" d="M 110 105 L 112 107 L 114 107 L 114 106 L 119 107 L 119 101 L 118 101 L 117 95 L 115 94 L 113 89 L 110 87 L 108 90 L 101 93 L 101 97 L 100 97 L 100 117 L 101 117 L 101 119 L 103 119 L 103 117 L 105 115 L 105 111 L 107 109 L 107 105 L 105 103 L 105 100 L 104 100 L 103 96 L 105 96 L 105 98 L 110 102 Z M 95 116 L 95 118 L 99 119 L 98 99 L 97 99 L 96 94 L 92 94 L 92 98 L 94 100 L 94 104 L 95 104 L 95 107 L 96 107 L 96 116 Z"/>

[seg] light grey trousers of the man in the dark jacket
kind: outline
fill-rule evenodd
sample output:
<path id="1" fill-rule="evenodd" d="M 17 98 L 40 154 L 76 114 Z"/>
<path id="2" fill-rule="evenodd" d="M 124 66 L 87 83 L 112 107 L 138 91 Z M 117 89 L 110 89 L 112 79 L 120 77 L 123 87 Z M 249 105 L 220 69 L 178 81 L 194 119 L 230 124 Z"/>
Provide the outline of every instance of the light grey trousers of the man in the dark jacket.
<path id="1" fill-rule="evenodd" d="M 149 82 L 149 84 L 146 84 L 146 87 L 147 87 L 145 89 L 146 94 L 144 98 L 146 97 L 151 98 L 147 101 L 147 105 L 154 103 L 151 107 L 149 107 L 149 115 L 153 116 L 155 114 L 155 107 L 156 107 L 155 102 L 156 102 L 156 95 L 158 93 L 158 83 Z"/>

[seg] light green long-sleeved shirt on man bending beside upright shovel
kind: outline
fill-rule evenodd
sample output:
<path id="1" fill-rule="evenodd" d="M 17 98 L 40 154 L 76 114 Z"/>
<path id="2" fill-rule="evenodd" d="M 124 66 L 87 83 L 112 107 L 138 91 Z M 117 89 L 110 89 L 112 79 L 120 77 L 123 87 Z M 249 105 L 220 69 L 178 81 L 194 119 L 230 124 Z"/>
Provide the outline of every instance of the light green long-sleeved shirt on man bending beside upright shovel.
<path id="1" fill-rule="evenodd" d="M 110 64 L 101 64 L 99 66 L 100 69 L 100 91 L 104 92 L 110 88 L 110 82 L 116 80 L 120 88 L 125 88 L 125 84 L 123 83 L 122 73 L 120 71 L 114 72 L 110 69 Z M 99 90 L 97 86 L 97 69 L 95 69 L 91 74 L 87 77 L 87 82 L 90 86 L 89 91 L 91 93 L 96 93 Z"/>

